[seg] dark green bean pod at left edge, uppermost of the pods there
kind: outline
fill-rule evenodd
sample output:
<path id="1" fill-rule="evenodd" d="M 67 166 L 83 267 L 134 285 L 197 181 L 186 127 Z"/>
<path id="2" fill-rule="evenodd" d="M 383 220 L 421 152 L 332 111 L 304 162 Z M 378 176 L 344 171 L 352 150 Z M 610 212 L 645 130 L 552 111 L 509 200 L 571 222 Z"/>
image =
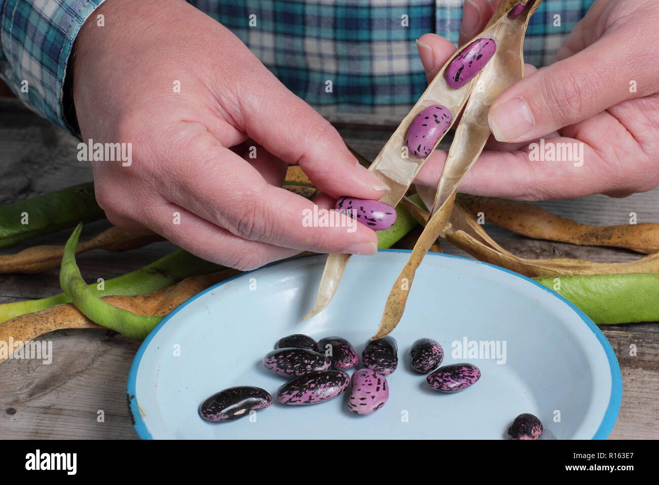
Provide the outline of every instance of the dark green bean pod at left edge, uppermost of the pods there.
<path id="1" fill-rule="evenodd" d="M 103 217 L 92 182 L 5 205 L 0 207 L 0 247 Z"/>

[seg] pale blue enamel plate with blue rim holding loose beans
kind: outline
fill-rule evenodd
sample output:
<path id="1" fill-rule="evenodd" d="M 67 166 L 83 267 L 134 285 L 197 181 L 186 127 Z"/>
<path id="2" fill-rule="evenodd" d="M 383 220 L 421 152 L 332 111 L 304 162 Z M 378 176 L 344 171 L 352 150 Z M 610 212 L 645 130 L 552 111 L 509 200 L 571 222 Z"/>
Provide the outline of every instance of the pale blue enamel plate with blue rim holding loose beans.
<path id="1" fill-rule="evenodd" d="M 405 315 L 391 334 L 399 366 L 387 376 L 390 395 L 383 408 L 353 414 L 347 391 L 311 406 L 274 399 L 269 408 L 231 422 L 199 417 L 199 404 L 227 387 L 262 387 L 274 398 L 285 378 L 266 370 L 261 359 L 286 335 L 337 335 L 361 354 L 408 253 L 353 256 L 329 306 L 304 322 L 322 273 L 321 255 L 244 273 L 190 298 L 152 331 L 130 369 L 128 398 L 138 436 L 504 439 L 523 412 L 540 418 L 542 439 L 608 436 L 620 407 L 621 376 L 592 321 L 529 278 L 436 253 L 416 272 Z M 420 337 L 442 344 L 442 365 L 478 366 L 480 380 L 455 394 L 430 389 L 409 364 L 409 348 Z"/>

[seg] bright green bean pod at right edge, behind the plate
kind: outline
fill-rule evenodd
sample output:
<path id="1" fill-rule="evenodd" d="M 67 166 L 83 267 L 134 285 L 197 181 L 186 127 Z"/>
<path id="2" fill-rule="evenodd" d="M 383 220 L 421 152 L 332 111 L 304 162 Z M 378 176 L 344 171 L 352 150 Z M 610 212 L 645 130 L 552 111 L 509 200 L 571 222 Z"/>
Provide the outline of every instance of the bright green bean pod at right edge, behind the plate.
<path id="1" fill-rule="evenodd" d="M 533 278 L 599 325 L 659 321 L 659 275 L 565 275 Z"/>

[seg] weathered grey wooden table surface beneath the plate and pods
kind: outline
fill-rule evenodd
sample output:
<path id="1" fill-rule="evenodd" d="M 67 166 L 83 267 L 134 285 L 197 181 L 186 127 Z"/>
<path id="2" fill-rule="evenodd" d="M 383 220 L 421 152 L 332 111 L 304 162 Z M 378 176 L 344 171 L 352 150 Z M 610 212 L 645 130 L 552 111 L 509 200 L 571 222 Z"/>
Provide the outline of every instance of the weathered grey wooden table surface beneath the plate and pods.
<path id="1" fill-rule="evenodd" d="M 397 119 L 366 115 L 337 117 L 347 143 L 372 159 Z M 19 102 L 0 98 L 0 205 L 90 181 L 86 162 L 76 158 L 77 141 L 49 125 Z M 330 156 L 330 155 L 328 155 Z M 627 224 L 629 212 L 639 222 L 659 222 L 659 189 L 626 199 L 594 195 L 549 201 L 542 207 L 587 224 Z M 87 224 L 96 234 L 107 221 Z M 592 261 L 630 261 L 639 257 L 623 249 L 580 247 L 530 240 L 496 226 L 486 230 L 503 247 L 523 257 L 575 257 Z M 4 249 L 11 253 L 43 243 L 63 243 L 70 230 Z M 84 237 L 83 234 L 83 237 Z M 448 254 L 466 256 L 443 243 Z M 88 281 L 113 278 L 171 252 L 161 242 L 127 253 L 90 251 L 78 257 Z M 0 303 L 43 298 L 59 293 L 58 271 L 42 275 L 0 275 Z M 623 402 L 612 439 L 659 438 L 659 327 L 654 323 L 602 325 L 620 362 Z M 40 337 L 53 342 L 53 362 L 7 360 L 0 364 L 0 437 L 2 438 L 134 438 L 125 387 L 130 362 L 139 346 L 109 330 L 56 331 Z M 629 356 L 635 344 L 637 355 Z M 98 416 L 103 411 L 104 420 Z"/>

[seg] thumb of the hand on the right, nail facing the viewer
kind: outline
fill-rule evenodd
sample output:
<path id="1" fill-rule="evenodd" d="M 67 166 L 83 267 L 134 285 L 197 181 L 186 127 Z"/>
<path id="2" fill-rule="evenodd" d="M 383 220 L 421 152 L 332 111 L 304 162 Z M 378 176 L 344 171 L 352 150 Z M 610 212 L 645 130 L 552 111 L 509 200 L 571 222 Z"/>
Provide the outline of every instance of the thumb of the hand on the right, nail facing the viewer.
<path id="1" fill-rule="evenodd" d="M 499 141 L 529 141 L 573 125 L 656 88 L 659 69 L 639 49 L 627 49 L 621 31 L 563 61 L 539 69 L 503 92 L 488 121 Z M 624 34 L 628 36 L 629 34 Z M 639 64 L 645 62 L 646 66 Z M 638 92 L 630 88 L 634 80 Z"/>

